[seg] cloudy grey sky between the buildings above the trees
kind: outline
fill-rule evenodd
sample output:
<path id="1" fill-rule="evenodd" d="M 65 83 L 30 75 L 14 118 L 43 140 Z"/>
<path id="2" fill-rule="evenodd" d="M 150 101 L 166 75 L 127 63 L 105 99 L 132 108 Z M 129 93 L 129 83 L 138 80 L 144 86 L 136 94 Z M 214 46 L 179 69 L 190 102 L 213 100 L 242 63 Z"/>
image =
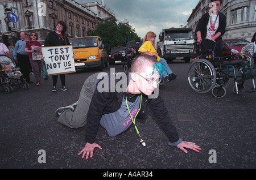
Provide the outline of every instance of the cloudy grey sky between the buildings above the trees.
<path id="1" fill-rule="evenodd" d="M 90 1 L 92 0 L 77 0 Z M 148 31 L 155 32 L 158 37 L 164 28 L 186 25 L 198 2 L 199 0 L 104 0 L 104 5 L 114 12 L 118 21 L 127 19 L 135 32 L 143 38 Z"/>

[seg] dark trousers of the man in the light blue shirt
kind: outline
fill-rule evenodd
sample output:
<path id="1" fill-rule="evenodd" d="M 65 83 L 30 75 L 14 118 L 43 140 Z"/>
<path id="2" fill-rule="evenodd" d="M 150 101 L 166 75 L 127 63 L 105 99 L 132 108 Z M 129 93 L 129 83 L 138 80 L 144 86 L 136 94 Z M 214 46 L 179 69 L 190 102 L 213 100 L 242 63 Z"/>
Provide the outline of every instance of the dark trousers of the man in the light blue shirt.
<path id="1" fill-rule="evenodd" d="M 18 67 L 20 67 L 20 72 L 22 72 L 23 74 L 23 78 L 26 79 L 27 82 L 30 82 L 30 58 L 28 57 L 28 55 L 22 55 L 17 53 L 17 61 Z"/>

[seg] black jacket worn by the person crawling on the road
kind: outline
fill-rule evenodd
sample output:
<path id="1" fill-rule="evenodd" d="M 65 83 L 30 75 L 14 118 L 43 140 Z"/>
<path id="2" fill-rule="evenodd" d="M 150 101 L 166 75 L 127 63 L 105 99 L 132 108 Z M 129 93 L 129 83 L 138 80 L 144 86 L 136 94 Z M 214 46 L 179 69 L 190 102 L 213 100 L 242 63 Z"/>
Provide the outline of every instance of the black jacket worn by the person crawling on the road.
<path id="1" fill-rule="evenodd" d="M 127 84 L 122 87 L 126 90 L 129 84 L 129 72 L 125 72 L 127 77 Z M 110 86 L 109 78 L 109 86 Z M 115 79 L 115 85 L 120 82 L 120 79 Z M 115 87 L 109 87 L 109 92 L 98 92 L 96 88 L 92 101 L 90 103 L 89 111 L 87 114 L 87 122 L 85 127 L 85 140 L 88 143 L 96 142 L 97 128 L 103 114 L 116 112 L 122 104 L 122 98 L 126 92 L 117 92 Z M 139 96 L 139 95 L 138 95 Z M 177 133 L 176 127 L 171 121 L 171 117 L 164 106 L 163 98 L 159 95 L 157 98 L 148 98 L 146 95 L 142 96 L 142 107 L 138 116 L 142 119 L 146 116 L 146 110 L 150 108 L 156 120 L 159 122 L 160 127 L 166 133 L 171 143 L 177 142 L 180 138 Z"/>

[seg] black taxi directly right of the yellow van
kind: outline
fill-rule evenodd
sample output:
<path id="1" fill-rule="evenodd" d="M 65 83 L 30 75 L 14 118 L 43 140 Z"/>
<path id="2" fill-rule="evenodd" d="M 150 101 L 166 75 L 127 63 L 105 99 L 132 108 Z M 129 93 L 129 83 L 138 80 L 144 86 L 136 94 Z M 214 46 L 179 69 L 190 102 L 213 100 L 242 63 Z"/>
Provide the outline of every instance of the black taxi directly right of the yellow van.
<path id="1" fill-rule="evenodd" d="M 117 65 L 122 64 L 122 62 L 126 62 L 126 47 L 124 46 L 117 46 L 111 48 L 111 52 L 109 55 L 109 64 L 110 65 Z"/>

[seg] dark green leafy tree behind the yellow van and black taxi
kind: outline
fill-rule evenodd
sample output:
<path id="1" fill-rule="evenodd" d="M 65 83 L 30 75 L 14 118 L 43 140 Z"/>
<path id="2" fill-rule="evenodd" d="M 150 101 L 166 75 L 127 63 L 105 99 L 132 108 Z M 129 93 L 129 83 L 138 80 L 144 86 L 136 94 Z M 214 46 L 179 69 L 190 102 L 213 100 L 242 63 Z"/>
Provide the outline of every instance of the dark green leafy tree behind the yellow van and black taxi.
<path id="1" fill-rule="evenodd" d="M 97 24 L 96 29 L 87 31 L 87 35 L 100 36 L 108 52 L 115 46 L 126 46 L 128 41 L 140 38 L 133 27 L 123 23 L 117 24 L 116 21 L 117 19 L 112 19 L 101 22 Z"/>

